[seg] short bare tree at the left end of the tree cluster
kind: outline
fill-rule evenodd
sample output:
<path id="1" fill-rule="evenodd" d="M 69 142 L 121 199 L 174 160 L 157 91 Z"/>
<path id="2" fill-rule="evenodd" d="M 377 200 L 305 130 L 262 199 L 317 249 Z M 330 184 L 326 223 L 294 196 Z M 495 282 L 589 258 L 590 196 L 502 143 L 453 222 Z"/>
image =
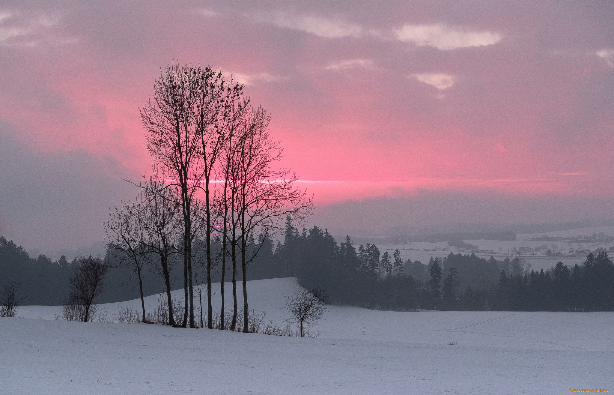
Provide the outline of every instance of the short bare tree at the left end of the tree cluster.
<path id="1" fill-rule="evenodd" d="M 147 323 L 145 299 L 143 294 L 143 268 L 147 262 L 147 249 L 144 248 L 144 227 L 142 225 L 141 201 L 120 201 L 109 211 L 109 219 L 104 222 L 106 242 L 120 265 L 133 269 L 139 280 L 142 322 Z"/>

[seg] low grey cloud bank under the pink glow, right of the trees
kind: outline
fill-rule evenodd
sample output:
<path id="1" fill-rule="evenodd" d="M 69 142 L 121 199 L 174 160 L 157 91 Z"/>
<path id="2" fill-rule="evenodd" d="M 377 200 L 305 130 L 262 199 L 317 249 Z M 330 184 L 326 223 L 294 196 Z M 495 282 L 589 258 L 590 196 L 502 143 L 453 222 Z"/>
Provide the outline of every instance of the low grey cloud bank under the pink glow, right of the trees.
<path id="1" fill-rule="evenodd" d="M 614 218 L 609 198 L 581 196 L 516 197 L 492 192 L 422 190 L 407 198 L 344 201 L 317 208 L 309 225 L 341 232 L 362 229 L 384 233 L 403 226 L 454 223 L 543 224 L 585 218 Z M 366 232 L 365 232 L 366 233 Z"/>

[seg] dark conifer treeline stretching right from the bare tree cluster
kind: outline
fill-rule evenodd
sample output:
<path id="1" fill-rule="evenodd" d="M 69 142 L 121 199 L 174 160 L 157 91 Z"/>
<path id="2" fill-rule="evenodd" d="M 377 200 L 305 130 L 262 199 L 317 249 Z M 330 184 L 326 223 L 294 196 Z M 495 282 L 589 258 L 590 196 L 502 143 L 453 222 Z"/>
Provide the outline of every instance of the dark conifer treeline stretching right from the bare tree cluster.
<path id="1" fill-rule="evenodd" d="M 392 257 L 381 254 L 375 244 L 356 248 L 349 236 L 337 244 L 317 226 L 299 233 L 290 220 L 284 243 L 273 248 L 268 241 L 262 251 L 270 258 L 254 266 L 265 276 L 296 276 L 308 289 L 325 286 L 333 303 L 398 310 L 614 310 L 614 265 L 606 252 L 589 254 L 572 268 L 559 262 L 546 272 L 530 270 L 518 257 L 499 261 L 475 254 L 450 253 L 422 264 L 403 262 L 398 250 Z"/>

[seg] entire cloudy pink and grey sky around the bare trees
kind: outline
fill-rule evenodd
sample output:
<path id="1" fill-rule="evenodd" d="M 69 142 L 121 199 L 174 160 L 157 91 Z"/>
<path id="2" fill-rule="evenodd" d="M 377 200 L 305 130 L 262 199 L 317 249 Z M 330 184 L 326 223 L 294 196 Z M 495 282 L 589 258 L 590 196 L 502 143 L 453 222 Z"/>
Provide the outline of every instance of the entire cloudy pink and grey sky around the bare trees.
<path id="1" fill-rule="evenodd" d="M 612 1 L 4 1 L 0 234 L 102 239 L 173 60 L 271 112 L 314 224 L 613 217 L 612 21 Z"/>

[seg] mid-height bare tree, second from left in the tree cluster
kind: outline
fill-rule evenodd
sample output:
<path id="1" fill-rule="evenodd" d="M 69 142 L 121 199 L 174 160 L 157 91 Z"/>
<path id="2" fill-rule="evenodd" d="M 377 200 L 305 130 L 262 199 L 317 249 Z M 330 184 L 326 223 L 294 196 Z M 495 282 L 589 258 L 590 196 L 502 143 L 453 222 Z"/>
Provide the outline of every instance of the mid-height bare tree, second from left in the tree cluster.
<path id="1" fill-rule="evenodd" d="M 181 205 L 173 189 L 167 188 L 165 174 L 153 169 L 153 175 L 141 184 L 141 225 L 144 229 L 142 243 L 153 270 L 163 278 L 168 306 L 168 324 L 176 326 L 173 299 L 171 298 L 171 270 L 177 254 L 175 242 L 181 234 Z"/>

